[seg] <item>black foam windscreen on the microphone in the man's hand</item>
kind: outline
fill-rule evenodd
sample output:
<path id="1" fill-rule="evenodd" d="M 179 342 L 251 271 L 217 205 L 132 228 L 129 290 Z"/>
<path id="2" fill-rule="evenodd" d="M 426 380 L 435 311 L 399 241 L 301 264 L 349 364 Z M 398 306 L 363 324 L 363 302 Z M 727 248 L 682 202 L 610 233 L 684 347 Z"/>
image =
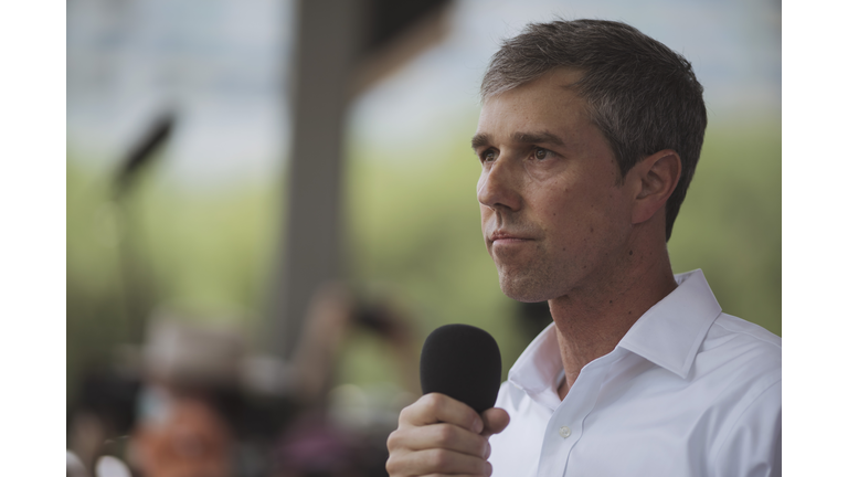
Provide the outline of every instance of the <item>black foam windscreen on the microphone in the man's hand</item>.
<path id="1" fill-rule="evenodd" d="M 495 405 L 499 388 L 500 350 L 488 332 L 469 325 L 445 325 L 424 341 L 424 394 L 446 394 L 481 413 Z"/>

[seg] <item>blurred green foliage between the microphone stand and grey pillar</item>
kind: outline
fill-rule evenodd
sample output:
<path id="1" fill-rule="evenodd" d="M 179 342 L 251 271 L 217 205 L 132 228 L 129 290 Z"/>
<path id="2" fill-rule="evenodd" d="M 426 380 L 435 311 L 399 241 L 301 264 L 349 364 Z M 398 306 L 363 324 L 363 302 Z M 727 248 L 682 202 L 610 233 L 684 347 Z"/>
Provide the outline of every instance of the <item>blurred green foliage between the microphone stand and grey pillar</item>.
<path id="1" fill-rule="evenodd" d="M 280 222 L 277 188 L 221 192 L 153 184 L 144 192 L 142 253 L 161 306 L 221 319 L 259 312 Z"/>

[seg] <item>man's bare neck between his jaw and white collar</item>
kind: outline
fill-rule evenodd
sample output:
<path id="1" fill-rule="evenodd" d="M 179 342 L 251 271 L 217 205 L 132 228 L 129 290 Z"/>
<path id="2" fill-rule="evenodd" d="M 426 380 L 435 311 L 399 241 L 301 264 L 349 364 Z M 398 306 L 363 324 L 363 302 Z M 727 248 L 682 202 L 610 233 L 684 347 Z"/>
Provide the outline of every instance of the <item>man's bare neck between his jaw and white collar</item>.
<path id="1" fill-rule="evenodd" d="M 575 290 L 548 303 L 565 370 L 560 399 L 583 367 L 615 349 L 633 324 L 677 287 L 665 250 L 661 257 L 647 268 L 621 271 L 614 286 L 603 292 Z"/>

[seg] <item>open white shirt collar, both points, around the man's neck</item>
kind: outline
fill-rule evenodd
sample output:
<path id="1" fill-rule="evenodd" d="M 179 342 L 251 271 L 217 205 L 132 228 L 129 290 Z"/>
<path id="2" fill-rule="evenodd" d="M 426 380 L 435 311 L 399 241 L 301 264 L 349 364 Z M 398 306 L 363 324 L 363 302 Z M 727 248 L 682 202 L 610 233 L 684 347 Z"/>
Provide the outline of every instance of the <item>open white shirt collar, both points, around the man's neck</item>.
<path id="1" fill-rule="evenodd" d="M 695 356 L 721 307 L 700 269 L 675 275 L 678 287 L 648 309 L 616 348 L 686 378 Z M 556 330 L 551 324 L 527 347 L 509 370 L 508 381 L 534 400 L 556 407 L 562 375 Z"/>

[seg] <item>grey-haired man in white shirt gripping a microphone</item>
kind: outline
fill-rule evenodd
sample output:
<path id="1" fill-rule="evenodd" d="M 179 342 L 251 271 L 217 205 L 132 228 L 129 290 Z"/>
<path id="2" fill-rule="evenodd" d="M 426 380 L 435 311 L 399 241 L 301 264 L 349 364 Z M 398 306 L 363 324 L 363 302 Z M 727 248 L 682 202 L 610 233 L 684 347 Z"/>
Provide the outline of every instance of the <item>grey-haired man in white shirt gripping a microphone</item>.
<path id="1" fill-rule="evenodd" d="M 780 475 L 780 338 L 666 250 L 707 126 L 689 62 L 622 23 L 532 24 L 481 93 L 486 246 L 553 324 L 483 415 L 439 394 L 405 409 L 390 474 Z"/>

